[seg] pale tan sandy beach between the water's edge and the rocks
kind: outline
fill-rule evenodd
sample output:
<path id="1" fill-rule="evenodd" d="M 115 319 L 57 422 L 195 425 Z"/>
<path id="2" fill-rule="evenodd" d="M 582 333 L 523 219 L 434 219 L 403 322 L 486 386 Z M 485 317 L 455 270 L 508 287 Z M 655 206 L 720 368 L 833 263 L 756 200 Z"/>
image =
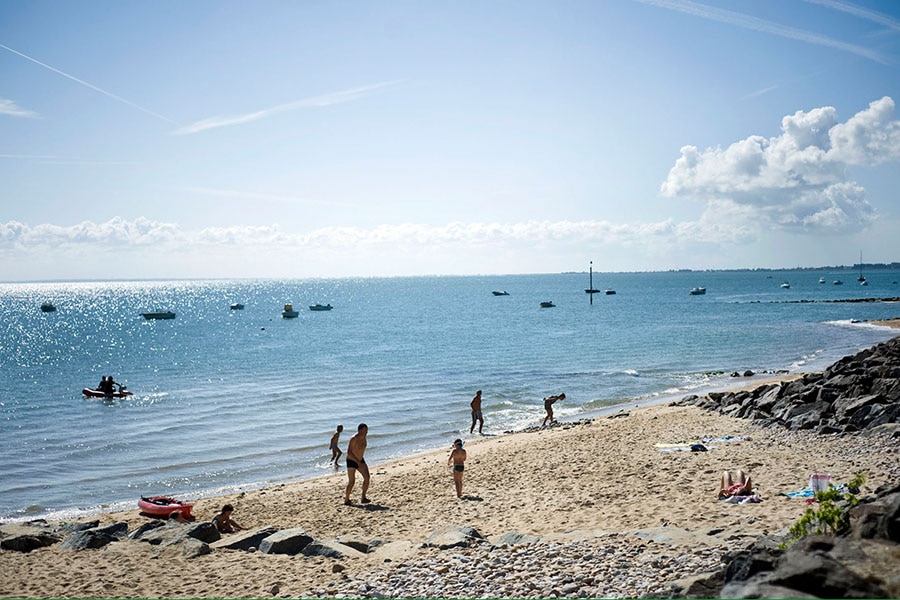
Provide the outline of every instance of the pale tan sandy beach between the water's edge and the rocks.
<path id="1" fill-rule="evenodd" d="M 654 446 L 725 436 L 749 439 L 712 442 L 708 452 L 662 452 Z M 315 480 L 201 499 L 193 511 L 198 520 L 208 520 L 230 502 L 234 518 L 247 528 L 302 527 L 316 539 L 395 542 L 369 554 L 329 559 L 218 550 L 187 559 L 136 541 L 78 552 L 55 546 L 3 551 L 0 595 L 340 595 L 348 582 L 388 582 L 392 571 L 410 563 L 475 552 L 420 547 L 445 524 L 473 527 L 490 541 L 515 531 L 543 536 L 545 542 L 587 541 L 600 548 L 615 538 L 617 545 L 641 551 L 650 539 L 656 540 L 650 542 L 653 552 L 673 557 L 705 547 L 724 552 L 793 524 L 804 501 L 777 494 L 804 488 L 812 472 L 827 471 L 836 481 L 865 472 L 864 492 L 900 475 L 896 439 L 763 429 L 695 407 L 625 409 L 592 422 L 475 439 L 466 449 L 462 500 L 455 496 L 446 464 L 448 449 L 371 465 L 373 502 L 367 506 L 343 505 L 347 476 L 342 467 Z M 716 499 L 720 473 L 737 468 L 751 473 L 761 503 Z M 359 483 L 354 498 L 359 498 Z M 129 530 L 147 520 L 137 509 L 100 519 L 101 524 L 126 521 Z M 437 573 L 438 578 L 453 576 L 445 569 Z M 676 570 L 666 576 L 683 574 Z M 365 587 L 350 595 L 364 593 Z"/>

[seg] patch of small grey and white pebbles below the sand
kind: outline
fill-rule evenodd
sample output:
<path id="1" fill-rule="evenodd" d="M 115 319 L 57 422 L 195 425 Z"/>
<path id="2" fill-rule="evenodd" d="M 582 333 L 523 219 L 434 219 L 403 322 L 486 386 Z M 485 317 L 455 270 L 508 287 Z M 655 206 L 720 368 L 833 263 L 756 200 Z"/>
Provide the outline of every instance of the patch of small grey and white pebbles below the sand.
<path id="1" fill-rule="evenodd" d="M 604 537 L 569 543 L 433 550 L 400 568 L 386 566 L 304 597 L 360 598 L 635 598 L 661 594 L 672 581 L 715 571 L 731 546 L 685 553 L 655 548 L 652 560 L 625 540 Z M 488 554 L 490 553 L 490 554 Z M 490 557 L 490 558 L 488 558 Z M 502 565 L 502 567 L 498 566 Z M 368 583 L 367 583 L 368 582 Z"/>

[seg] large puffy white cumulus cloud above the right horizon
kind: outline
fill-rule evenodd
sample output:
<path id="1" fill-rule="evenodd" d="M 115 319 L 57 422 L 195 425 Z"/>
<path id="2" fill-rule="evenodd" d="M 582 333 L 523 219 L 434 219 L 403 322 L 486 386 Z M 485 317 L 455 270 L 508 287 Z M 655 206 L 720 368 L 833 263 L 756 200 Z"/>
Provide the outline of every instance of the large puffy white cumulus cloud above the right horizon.
<path id="1" fill-rule="evenodd" d="M 740 215 L 761 227 L 860 231 L 875 209 L 846 170 L 900 161 L 893 112 L 884 97 L 842 123 L 827 106 L 784 117 L 776 137 L 754 135 L 724 149 L 685 146 L 661 192 L 707 202 L 710 222 Z"/>

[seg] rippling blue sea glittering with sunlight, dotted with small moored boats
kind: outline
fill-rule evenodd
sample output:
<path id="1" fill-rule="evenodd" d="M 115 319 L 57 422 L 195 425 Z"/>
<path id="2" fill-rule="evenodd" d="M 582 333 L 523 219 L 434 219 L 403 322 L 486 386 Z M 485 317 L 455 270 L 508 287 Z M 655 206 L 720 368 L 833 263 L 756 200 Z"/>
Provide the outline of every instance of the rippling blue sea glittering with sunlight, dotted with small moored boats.
<path id="1" fill-rule="evenodd" d="M 542 398 L 560 392 L 555 412 L 567 421 L 724 389 L 733 373 L 744 384 L 746 371 L 822 370 L 897 333 L 871 321 L 900 317 L 900 304 L 861 300 L 900 296 L 900 271 L 867 273 L 867 286 L 857 275 L 0 284 L 0 520 L 326 475 L 339 423 L 345 450 L 357 425 L 369 426 L 370 465 L 449 450 L 478 437 L 478 389 L 484 435 L 494 436 L 539 425 Z M 705 295 L 689 293 L 700 286 Z M 57 310 L 42 312 L 43 302 Z M 282 318 L 287 303 L 297 318 Z M 333 310 L 310 311 L 316 303 Z M 150 310 L 176 317 L 144 319 Z M 133 395 L 84 397 L 104 375 Z"/>

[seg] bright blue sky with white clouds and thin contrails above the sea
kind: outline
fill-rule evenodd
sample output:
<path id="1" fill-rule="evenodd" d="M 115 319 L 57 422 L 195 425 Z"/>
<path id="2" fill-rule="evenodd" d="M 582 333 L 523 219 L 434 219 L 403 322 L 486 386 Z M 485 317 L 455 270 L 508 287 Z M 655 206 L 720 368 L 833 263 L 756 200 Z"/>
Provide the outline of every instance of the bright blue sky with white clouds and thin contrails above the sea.
<path id="1" fill-rule="evenodd" d="M 6 0 L 0 281 L 900 261 L 900 3 Z"/>

